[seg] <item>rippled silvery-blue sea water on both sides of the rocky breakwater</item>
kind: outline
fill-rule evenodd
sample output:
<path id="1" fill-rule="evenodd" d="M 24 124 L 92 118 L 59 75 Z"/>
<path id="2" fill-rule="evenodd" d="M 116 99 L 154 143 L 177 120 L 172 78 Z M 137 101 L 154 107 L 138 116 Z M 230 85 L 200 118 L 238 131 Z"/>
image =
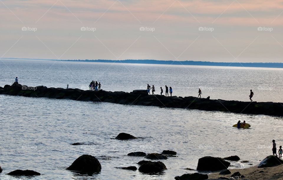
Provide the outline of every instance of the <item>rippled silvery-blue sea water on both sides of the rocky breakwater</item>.
<path id="1" fill-rule="evenodd" d="M 90 80 L 101 82 L 103 90 L 127 91 L 172 86 L 173 95 L 212 99 L 283 102 L 281 69 L 195 67 L 75 63 L 52 61 L 0 61 L 0 86 L 19 77 L 22 85 L 76 87 L 86 89 Z M 203 156 L 238 155 L 257 164 L 271 155 L 272 139 L 283 144 L 282 119 L 266 115 L 240 115 L 172 108 L 129 106 L 112 103 L 80 102 L 47 98 L 0 95 L 0 179 L 16 169 L 40 172 L 33 179 L 173 179 L 196 169 Z M 250 129 L 232 128 L 246 120 Z M 120 132 L 143 139 L 119 141 Z M 70 144 L 84 142 L 86 145 Z M 161 153 L 177 151 L 177 158 L 161 160 L 167 170 L 159 175 L 116 169 L 136 166 L 142 157 L 129 157 L 134 151 Z M 85 176 L 65 170 L 82 154 L 98 158 L 102 170 Z M 234 162 L 238 167 L 249 163 Z M 235 168 L 231 167 L 231 168 Z"/>

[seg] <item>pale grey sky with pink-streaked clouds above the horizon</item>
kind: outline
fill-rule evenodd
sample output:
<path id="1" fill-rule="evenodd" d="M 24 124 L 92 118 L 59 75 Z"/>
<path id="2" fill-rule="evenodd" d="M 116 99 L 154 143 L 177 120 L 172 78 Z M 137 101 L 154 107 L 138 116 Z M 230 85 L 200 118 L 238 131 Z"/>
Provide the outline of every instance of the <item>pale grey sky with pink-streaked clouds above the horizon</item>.
<path id="1" fill-rule="evenodd" d="M 0 0 L 0 58 L 283 62 L 281 0 Z"/>

